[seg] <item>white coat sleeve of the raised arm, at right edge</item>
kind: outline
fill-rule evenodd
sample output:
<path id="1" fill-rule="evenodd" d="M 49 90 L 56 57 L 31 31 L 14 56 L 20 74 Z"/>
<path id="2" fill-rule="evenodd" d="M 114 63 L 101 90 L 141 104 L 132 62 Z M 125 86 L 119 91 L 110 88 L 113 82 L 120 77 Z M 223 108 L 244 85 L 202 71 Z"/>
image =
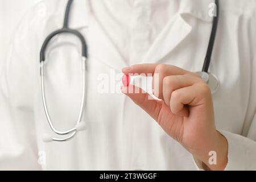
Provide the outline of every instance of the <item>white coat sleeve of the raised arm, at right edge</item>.
<path id="1" fill-rule="evenodd" d="M 255 30 L 255 29 L 254 29 Z M 255 35 L 255 34 L 254 34 Z M 256 36 L 254 36 L 255 38 Z M 249 106 L 241 135 L 220 130 L 228 140 L 226 170 L 256 170 L 256 48 L 251 62 L 251 88 Z"/>

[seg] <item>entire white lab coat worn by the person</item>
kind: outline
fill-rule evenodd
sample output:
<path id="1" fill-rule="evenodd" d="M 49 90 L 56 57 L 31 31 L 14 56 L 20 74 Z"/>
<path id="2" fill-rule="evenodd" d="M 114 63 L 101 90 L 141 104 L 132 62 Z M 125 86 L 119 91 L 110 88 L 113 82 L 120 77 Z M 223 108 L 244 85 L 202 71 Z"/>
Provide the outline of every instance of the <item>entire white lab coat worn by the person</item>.
<path id="1" fill-rule="evenodd" d="M 75 0 L 69 27 L 85 36 L 89 48 L 87 130 L 63 143 L 42 142 L 44 133 L 55 135 L 43 110 L 39 52 L 46 36 L 61 28 L 67 1 L 36 5 L 16 30 L 1 76 L 0 169 L 200 169 L 200 162 L 129 98 L 99 93 L 98 85 L 102 73 L 117 74 L 135 63 L 200 71 L 212 27 L 210 2 L 180 0 L 177 13 L 154 19 L 157 7 L 171 9 L 167 1 Z M 213 95 L 216 126 L 228 139 L 226 169 L 256 169 L 256 5 L 254 0 L 221 0 L 220 6 L 210 64 L 220 81 Z M 131 22 L 120 24 L 117 17 Z M 57 36 L 49 44 L 46 96 L 59 130 L 75 126 L 79 114 L 79 56 L 80 42 L 73 36 Z"/>

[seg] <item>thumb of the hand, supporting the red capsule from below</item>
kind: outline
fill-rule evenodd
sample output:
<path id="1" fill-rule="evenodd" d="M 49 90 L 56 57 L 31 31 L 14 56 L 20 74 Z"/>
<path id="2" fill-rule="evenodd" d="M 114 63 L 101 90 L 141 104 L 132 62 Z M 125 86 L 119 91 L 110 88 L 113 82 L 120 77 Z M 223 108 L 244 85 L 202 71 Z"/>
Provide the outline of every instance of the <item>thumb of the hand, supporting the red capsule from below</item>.
<path id="1" fill-rule="evenodd" d="M 157 121 L 162 108 L 160 101 L 154 100 L 148 93 L 134 85 L 122 86 L 121 91 Z"/>

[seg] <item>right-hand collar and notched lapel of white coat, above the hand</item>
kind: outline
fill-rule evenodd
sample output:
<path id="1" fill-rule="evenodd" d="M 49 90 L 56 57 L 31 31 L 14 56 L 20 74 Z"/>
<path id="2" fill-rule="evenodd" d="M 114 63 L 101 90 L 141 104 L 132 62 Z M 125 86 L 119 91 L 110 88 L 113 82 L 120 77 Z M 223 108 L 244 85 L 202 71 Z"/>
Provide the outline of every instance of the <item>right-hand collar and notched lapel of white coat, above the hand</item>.
<path id="1" fill-rule="evenodd" d="M 192 31 L 192 27 L 185 21 L 183 15 L 192 15 L 205 22 L 211 23 L 209 5 L 214 0 L 181 0 L 178 13 L 170 19 L 163 31 L 144 56 L 142 63 L 159 63 L 164 56 L 174 50 Z"/>

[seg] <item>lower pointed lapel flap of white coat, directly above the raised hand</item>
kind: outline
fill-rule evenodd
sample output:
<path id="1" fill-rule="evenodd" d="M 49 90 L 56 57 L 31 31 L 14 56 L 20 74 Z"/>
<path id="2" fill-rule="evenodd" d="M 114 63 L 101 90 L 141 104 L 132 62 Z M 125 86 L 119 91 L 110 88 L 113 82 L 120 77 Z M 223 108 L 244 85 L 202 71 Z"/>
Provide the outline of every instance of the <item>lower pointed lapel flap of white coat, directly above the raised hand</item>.
<path id="1" fill-rule="evenodd" d="M 164 56 L 179 45 L 191 32 L 192 27 L 180 14 L 176 14 L 150 47 L 143 63 L 158 63 Z"/>

